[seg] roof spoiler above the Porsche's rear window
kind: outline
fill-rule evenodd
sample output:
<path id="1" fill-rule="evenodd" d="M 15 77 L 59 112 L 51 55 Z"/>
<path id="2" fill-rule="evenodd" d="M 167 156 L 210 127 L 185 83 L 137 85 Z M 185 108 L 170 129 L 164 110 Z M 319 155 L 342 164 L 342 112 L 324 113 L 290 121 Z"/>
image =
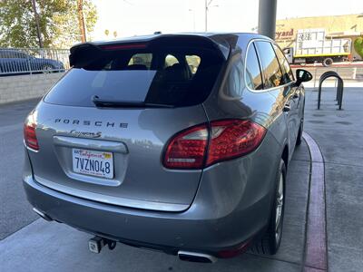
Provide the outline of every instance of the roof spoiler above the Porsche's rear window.
<path id="1" fill-rule="evenodd" d="M 192 35 L 192 34 L 159 34 L 152 36 L 152 38 L 144 40 L 129 40 L 129 41 L 118 41 L 114 43 L 84 43 L 76 44 L 71 48 L 71 54 L 69 55 L 69 62 L 71 67 L 81 68 L 86 66 L 88 63 L 94 60 L 90 56 L 103 56 L 103 53 L 109 53 L 113 48 L 124 47 L 125 49 L 130 47 L 128 44 L 133 45 L 137 48 L 137 44 L 145 44 L 145 48 L 152 48 L 157 44 L 163 44 L 164 46 L 173 44 L 185 44 L 185 46 L 201 46 L 206 49 L 215 50 L 221 55 L 224 60 L 227 60 L 230 54 L 230 44 L 221 38 L 221 36 L 208 36 Z M 135 46 L 136 45 L 136 46 Z M 183 45 L 184 46 L 184 45 Z M 108 48 L 108 50 L 106 49 Z"/>

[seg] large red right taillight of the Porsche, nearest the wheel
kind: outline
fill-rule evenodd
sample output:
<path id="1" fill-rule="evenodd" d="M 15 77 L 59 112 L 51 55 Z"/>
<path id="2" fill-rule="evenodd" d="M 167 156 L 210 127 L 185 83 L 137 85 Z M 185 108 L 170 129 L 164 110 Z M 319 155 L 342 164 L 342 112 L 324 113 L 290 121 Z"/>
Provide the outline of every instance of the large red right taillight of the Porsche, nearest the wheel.
<path id="1" fill-rule="evenodd" d="M 211 121 L 175 135 L 164 153 L 163 164 L 171 169 L 202 169 L 254 151 L 266 133 L 248 120 Z"/>

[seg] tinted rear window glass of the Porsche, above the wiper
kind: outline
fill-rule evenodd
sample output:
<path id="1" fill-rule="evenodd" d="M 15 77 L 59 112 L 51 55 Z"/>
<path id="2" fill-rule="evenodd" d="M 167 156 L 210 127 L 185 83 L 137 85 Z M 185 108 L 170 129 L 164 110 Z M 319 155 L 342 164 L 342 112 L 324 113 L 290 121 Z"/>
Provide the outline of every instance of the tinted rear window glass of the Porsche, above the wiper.
<path id="1" fill-rule="evenodd" d="M 71 69 L 56 83 L 44 102 L 93 107 L 93 95 L 172 106 L 203 102 L 221 70 L 221 55 L 201 47 L 160 47 L 92 55 L 94 60 Z"/>

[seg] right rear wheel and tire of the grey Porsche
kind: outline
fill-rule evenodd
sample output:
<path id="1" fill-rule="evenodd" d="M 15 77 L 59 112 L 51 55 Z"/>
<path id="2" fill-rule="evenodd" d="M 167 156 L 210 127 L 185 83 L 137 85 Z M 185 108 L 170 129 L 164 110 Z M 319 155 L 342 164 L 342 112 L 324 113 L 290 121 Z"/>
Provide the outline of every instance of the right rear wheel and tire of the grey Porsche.
<path id="1" fill-rule="evenodd" d="M 257 254 L 274 255 L 280 248 L 285 207 L 286 167 L 281 159 L 270 212 L 270 223 L 263 237 L 250 249 Z"/>

